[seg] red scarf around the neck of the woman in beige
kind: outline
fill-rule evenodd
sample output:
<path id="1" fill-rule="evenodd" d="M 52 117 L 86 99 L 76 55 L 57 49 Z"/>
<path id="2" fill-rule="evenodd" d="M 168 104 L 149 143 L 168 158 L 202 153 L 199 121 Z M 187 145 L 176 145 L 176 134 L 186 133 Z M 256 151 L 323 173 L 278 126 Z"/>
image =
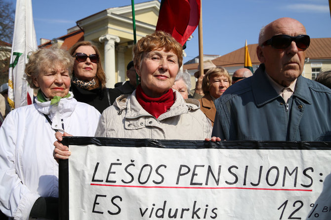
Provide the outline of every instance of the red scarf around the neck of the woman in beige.
<path id="1" fill-rule="evenodd" d="M 142 91 L 140 84 L 136 89 L 136 98 L 141 107 L 156 118 L 169 110 L 175 102 L 175 96 L 172 89 L 169 89 L 159 98 L 151 98 Z"/>

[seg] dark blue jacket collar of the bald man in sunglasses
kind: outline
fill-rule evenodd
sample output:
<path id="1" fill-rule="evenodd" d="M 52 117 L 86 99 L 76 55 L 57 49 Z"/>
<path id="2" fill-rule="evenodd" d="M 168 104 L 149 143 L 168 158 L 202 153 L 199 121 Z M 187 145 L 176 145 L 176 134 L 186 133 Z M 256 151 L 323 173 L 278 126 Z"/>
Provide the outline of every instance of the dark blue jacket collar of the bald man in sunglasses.
<path id="1" fill-rule="evenodd" d="M 261 64 L 251 77 L 252 93 L 257 106 L 262 106 L 279 97 L 265 74 L 265 66 Z M 308 104 L 312 103 L 309 85 L 301 75 L 297 78 L 293 96 L 302 99 Z"/>

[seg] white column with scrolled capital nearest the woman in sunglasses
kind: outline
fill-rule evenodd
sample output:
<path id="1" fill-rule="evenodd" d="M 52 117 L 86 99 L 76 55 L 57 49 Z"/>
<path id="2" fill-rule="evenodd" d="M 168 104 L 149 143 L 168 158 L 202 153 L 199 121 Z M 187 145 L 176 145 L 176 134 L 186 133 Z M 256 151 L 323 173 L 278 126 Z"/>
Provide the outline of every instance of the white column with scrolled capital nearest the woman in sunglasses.
<path id="1" fill-rule="evenodd" d="M 120 42 L 120 37 L 114 35 L 103 35 L 99 37 L 99 41 L 105 43 L 105 73 L 106 73 L 106 87 L 114 88 L 116 77 L 115 77 L 115 42 Z"/>

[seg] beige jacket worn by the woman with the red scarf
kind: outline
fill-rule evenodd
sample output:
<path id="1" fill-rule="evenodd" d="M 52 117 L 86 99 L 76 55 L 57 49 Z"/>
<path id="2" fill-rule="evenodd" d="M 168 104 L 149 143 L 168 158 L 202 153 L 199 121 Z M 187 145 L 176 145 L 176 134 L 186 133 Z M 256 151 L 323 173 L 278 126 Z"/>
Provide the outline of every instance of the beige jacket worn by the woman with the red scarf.
<path id="1" fill-rule="evenodd" d="M 200 110 L 197 100 L 186 102 L 175 91 L 175 102 L 158 119 L 144 110 L 135 97 L 118 97 L 113 106 L 103 111 L 96 137 L 205 140 L 210 138 L 211 124 Z"/>

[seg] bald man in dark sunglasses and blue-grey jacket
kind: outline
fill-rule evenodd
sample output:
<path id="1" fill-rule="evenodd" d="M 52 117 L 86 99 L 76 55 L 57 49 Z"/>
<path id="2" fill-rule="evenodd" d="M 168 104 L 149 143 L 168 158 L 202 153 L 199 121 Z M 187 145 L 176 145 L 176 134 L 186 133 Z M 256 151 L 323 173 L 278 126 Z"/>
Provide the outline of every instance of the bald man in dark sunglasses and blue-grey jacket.
<path id="1" fill-rule="evenodd" d="M 304 26 L 292 18 L 262 28 L 256 48 L 262 64 L 216 100 L 212 136 L 331 141 L 331 90 L 301 76 L 309 43 Z"/>

